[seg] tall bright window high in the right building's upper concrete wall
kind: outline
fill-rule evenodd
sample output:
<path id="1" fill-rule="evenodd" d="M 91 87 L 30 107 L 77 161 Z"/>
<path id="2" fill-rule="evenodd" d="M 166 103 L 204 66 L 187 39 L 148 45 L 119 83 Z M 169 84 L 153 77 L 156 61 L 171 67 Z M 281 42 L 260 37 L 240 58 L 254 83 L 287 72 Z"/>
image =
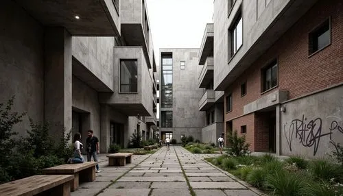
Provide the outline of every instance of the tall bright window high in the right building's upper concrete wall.
<path id="1" fill-rule="evenodd" d="M 241 8 L 239 8 L 241 10 Z M 239 50 L 241 45 L 243 45 L 243 20 L 241 18 L 241 11 L 238 12 L 235 22 L 232 27 L 229 29 L 230 32 L 230 46 L 231 46 L 231 55 L 233 57 L 235 53 Z"/>

